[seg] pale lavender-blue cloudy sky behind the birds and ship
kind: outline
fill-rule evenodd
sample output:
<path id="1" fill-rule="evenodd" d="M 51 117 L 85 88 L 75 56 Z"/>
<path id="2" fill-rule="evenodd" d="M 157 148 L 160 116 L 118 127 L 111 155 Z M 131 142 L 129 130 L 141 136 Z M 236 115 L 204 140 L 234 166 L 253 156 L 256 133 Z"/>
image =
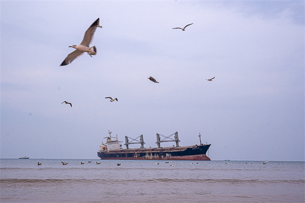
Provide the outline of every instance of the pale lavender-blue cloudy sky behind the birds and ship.
<path id="1" fill-rule="evenodd" d="M 98 18 L 97 54 L 59 66 Z M 98 159 L 110 130 L 305 161 L 304 24 L 304 1 L 1 1 L 0 158 Z"/>

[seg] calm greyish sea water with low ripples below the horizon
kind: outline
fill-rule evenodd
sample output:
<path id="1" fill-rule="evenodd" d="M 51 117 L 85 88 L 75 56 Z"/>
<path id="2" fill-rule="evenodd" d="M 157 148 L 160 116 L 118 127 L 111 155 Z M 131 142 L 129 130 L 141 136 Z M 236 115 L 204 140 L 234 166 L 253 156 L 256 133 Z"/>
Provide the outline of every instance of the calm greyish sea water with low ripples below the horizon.
<path id="1" fill-rule="evenodd" d="M 38 166 L 38 161 L 42 165 Z M 304 162 L 157 162 L 158 165 L 156 161 L 143 160 L 0 159 L 0 200 L 305 202 Z"/>

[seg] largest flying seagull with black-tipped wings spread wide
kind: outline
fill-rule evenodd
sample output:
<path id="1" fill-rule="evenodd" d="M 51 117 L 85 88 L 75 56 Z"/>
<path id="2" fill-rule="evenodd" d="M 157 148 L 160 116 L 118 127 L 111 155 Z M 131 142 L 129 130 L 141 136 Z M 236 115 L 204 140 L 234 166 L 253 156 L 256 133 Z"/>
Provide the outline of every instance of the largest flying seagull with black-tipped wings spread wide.
<path id="1" fill-rule="evenodd" d="M 66 66 L 68 64 L 71 64 L 75 59 L 77 59 L 79 56 L 81 56 L 84 52 L 87 52 L 91 57 L 92 55 L 97 54 L 97 48 L 95 46 L 89 47 L 90 43 L 93 40 L 94 33 L 97 29 L 97 27 L 100 26 L 100 18 L 98 18 L 85 32 L 85 36 L 83 41 L 79 45 L 72 45 L 69 47 L 75 48 L 73 52 L 69 53 L 66 59 L 63 61 L 60 66 Z"/>

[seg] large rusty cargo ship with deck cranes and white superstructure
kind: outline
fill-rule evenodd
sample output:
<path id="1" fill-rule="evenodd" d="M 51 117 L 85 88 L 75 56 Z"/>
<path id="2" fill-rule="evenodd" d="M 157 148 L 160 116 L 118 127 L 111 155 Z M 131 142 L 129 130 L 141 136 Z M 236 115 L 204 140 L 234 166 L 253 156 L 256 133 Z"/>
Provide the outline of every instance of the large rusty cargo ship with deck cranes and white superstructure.
<path id="1" fill-rule="evenodd" d="M 211 144 L 202 144 L 201 135 L 199 133 L 200 144 L 193 146 L 180 147 L 178 139 L 178 132 L 175 132 L 169 136 L 164 136 L 157 133 L 157 146 L 155 148 L 144 148 L 143 135 L 133 139 L 131 137 L 125 136 L 125 146 L 126 149 L 122 148 L 123 141 L 119 141 L 116 137 L 111 137 L 110 131 L 108 131 L 109 136 L 106 138 L 106 143 L 101 144 L 98 151 L 98 156 L 100 159 L 129 159 L 129 160 L 196 160 L 196 161 L 210 161 L 210 158 L 206 156 L 206 152 Z M 174 138 L 170 136 L 174 135 Z M 161 139 L 161 136 L 165 137 Z M 112 138 L 116 138 L 113 140 Z M 132 140 L 129 141 L 129 138 Z M 136 141 L 136 142 L 133 142 Z M 161 147 L 162 142 L 173 141 L 176 142 L 172 147 Z M 140 143 L 140 148 L 129 149 L 130 144 Z"/>

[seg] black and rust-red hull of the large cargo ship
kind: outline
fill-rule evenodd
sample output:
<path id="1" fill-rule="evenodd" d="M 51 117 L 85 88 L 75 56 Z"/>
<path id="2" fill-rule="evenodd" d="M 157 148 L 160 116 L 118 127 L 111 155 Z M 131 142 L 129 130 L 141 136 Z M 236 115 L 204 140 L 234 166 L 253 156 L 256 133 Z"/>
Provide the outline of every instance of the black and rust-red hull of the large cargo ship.
<path id="1" fill-rule="evenodd" d="M 210 161 L 206 152 L 210 144 L 190 147 L 145 148 L 98 152 L 101 159 L 130 160 L 197 160 Z"/>

